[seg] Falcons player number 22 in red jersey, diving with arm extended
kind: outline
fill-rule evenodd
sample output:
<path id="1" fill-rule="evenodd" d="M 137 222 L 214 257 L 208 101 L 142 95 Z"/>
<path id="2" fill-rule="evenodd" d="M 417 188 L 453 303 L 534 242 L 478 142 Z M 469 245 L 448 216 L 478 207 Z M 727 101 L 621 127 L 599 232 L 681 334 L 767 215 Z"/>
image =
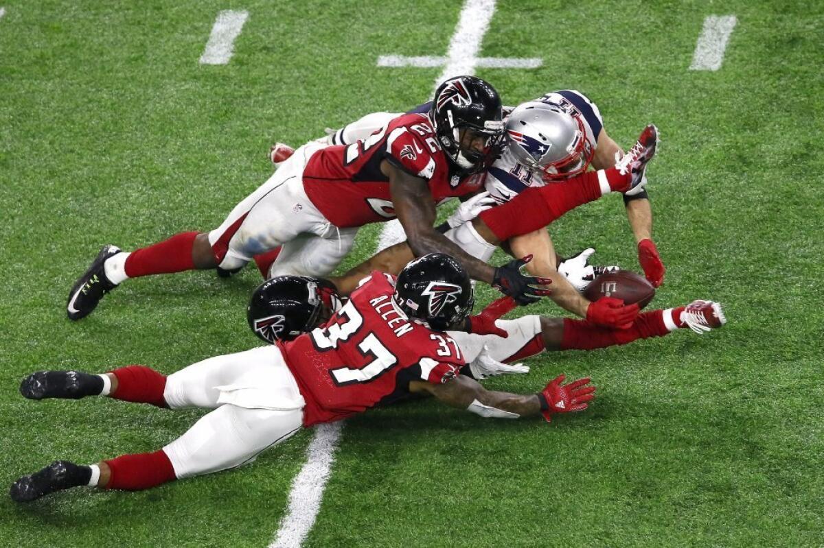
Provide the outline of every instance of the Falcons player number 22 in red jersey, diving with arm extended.
<path id="1" fill-rule="evenodd" d="M 281 248 L 290 274 L 325 276 L 352 247 L 362 225 L 395 216 L 415 256 L 446 252 L 471 278 L 519 302 L 549 290 L 522 274 L 525 262 L 499 268 L 463 252 L 435 230 L 435 207 L 478 188 L 463 175 L 484 170 L 503 133 L 501 101 L 480 78 L 455 77 L 438 88 L 428 114 L 405 114 L 349 146 L 307 143 L 283 162 L 217 229 L 185 232 L 124 253 L 101 249 L 68 295 L 68 318 L 86 317 L 130 277 L 219 268 L 233 272 L 255 254 Z"/>

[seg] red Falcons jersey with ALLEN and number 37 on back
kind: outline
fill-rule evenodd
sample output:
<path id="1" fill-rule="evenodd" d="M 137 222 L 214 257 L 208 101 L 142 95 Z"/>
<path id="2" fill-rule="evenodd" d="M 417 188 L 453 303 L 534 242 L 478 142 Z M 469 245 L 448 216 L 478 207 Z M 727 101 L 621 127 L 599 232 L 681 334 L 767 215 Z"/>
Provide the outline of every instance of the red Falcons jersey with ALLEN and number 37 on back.
<path id="1" fill-rule="evenodd" d="M 445 383 L 465 365 L 451 337 L 396 308 L 391 279 L 372 272 L 325 325 L 279 343 L 306 400 L 303 425 L 396 402 L 410 395 L 410 381 Z"/>

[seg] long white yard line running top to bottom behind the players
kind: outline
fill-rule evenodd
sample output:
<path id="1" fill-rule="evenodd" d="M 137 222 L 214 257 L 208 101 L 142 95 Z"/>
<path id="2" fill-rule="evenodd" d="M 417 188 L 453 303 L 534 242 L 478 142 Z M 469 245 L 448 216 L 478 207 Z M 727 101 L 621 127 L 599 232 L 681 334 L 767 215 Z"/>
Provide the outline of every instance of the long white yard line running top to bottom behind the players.
<path id="1" fill-rule="evenodd" d="M 479 63 L 477 57 L 480 51 L 481 41 L 484 39 L 486 30 L 489 28 L 489 21 L 495 11 L 494 0 L 466 0 L 458 25 L 452 40 L 449 43 L 447 57 L 445 58 L 417 58 L 419 63 L 428 64 L 428 67 L 438 67 L 446 65 L 438 80 L 435 81 L 433 91 L 440 86 L 441 82 L 453 76 L 461 74 L 473 74 L 476 66 L 484 66 Z M 386 67 L 405 66 L 400 63 L 403 59 L 400 56 L 385 56 Z M 394 60 L 392 60 L 394 59 Z M 534 64 L 535 60 L 531 60 Z M 540 59 L 538 64 L 540 66 Z M 497 63 L 495 61 L 494 63 Z M 378 62 L 380 64 L 380 61 Z M 499 67 L 490 61 L 489 67 Z M 532 64 L 529 65 L 532 67 Z M 405 239 L 403 228 L 400 222 L 391 221 L 384 225 L 377 249 L 386 248 L 391 244 Z M 325 489 L 326 480 L 329 478 L 332 463 L 335 462 L 335 448 L 340 438 L 342 424 L 339 422 L 328 425 L 318 425 L 315 429 L 315 437 L 312 439 L 307 449 L 308 460 L 300 473 L 293 481 L 292 491 L 289 493 L 289 507 L 280 529 L 269 548 L 298 548 L 303 539 L 311 530 L 315 523 L 318 511 L 321 509 L 321 499 Z"/>

